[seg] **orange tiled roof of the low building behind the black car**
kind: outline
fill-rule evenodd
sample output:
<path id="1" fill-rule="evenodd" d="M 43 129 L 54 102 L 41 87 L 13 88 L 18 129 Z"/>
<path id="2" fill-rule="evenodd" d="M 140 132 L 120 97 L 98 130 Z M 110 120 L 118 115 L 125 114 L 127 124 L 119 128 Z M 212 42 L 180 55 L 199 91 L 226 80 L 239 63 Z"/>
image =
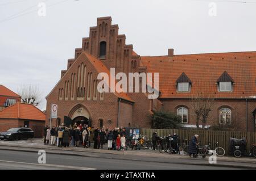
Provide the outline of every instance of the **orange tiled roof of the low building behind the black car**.
<path id="1" fill-rule="evenodd" d="M 46 115 L 32 104 L 16 103 L 0 111 L 0 119 L 3 118 L 45 121 Z"/>

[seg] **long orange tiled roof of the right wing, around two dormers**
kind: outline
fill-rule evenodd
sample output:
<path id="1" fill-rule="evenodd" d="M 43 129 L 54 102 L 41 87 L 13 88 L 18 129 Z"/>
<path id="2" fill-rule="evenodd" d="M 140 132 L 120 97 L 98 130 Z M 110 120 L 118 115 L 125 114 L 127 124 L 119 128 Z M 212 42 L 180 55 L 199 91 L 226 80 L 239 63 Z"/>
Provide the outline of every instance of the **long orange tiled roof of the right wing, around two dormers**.
<path id="1" fill-rule="evenodd" d="M 246 98 L 256 95 L 256 52 L 205 53 L 171 56 L 141 56 L 147 71 L 159 73 L 160 98 L 191 98 L 208 92 L 216 98 Z M 234 83 L 232 92 L 218 92 L 217 80 L 227 72 Z M 182 73 L 191 79 L 191 92 L 177 92 Z"/>

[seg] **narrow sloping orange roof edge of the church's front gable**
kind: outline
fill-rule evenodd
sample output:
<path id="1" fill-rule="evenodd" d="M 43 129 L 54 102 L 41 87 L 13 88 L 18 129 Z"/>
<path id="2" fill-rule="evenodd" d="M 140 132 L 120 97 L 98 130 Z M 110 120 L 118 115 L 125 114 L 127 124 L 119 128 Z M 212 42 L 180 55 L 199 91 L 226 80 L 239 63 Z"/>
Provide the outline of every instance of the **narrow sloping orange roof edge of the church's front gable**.
<path id="1" fill-rule="evenodd" d="M 88 60 L 92 63 L 92 65 L 98 71 L 98 73 L 101 73 L 101 72 L 107 73 L 109 75 L 109 78 L 110 78 L 109 69 L 106 68 L 106 66 L 100 60 L 98 60 L 98 58 L 96 58 L 96 57 L 94 57 L 91 54 L 88 54 L 86 52 L 83 52 L 83 53 L 85 54 L 86 57 L 88 57 Z M 110 85 L 109 85 L 109 87 L 110 87 Z M 119 92 L 118 93 L 118 92 L 114 91 L 114 94 L 116 96 L 118 96 L 119 98 L 134 102 L 134 100 L 131 99 L 130 96 L 128 96 L 127 93 L 125 93 L 125 92 Z"/>

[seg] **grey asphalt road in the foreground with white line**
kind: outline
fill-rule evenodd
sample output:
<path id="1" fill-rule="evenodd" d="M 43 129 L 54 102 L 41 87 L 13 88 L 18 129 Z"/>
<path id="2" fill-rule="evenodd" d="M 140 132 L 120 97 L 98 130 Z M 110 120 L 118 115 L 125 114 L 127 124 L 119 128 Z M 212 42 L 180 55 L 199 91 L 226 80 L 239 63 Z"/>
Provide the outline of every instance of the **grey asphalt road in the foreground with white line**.
<path id="1" fill-rule="evenodd" d="M 38 163 L 37 153 L 0 150 L 0 169 L 234 169 L 227 167 L 184 165 L 179 163 L 158 163 L 144 161 L 122 161 L 122 159 L 81 157 L 75 155 L 46 154 L 46 164 Z"/>

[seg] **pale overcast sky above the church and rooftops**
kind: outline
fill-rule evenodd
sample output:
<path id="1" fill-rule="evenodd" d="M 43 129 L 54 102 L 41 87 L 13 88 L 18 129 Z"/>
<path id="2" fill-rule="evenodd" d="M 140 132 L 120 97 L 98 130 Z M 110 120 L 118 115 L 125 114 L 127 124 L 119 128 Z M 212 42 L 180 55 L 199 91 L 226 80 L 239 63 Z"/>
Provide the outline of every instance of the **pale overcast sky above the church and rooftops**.
<path id="1" fill-rule="evenodd" d="M 140 55 L 256 50 L 255 0 L 48 0 L 46 16 L 38 16 L 42 1 L 0 0 L 0 84 L 13 91 L 35 85 L 45 97 L 101 16 L 112 16 Z M 216 16 L 209 15 L 210 2 Z"/>

